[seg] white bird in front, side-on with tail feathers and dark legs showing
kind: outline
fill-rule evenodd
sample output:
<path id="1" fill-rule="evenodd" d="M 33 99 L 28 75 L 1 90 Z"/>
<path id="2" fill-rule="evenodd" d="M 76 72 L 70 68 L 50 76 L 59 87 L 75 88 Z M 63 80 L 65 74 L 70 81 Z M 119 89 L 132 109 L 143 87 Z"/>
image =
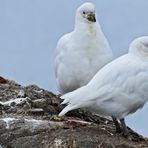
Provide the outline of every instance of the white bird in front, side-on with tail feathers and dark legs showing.
<path id="1" fill-rule="evenodd" d="M 104 66 L 87 85 L 61 98 L 65 99 L 62 104 L 68 105 L 59 116 L 86 108 L 112 116 L 116 129 L 128 135 L 124 118 L 142 108 L 148 100 L 148 36 L 134 40 L 128 54 Z"/>

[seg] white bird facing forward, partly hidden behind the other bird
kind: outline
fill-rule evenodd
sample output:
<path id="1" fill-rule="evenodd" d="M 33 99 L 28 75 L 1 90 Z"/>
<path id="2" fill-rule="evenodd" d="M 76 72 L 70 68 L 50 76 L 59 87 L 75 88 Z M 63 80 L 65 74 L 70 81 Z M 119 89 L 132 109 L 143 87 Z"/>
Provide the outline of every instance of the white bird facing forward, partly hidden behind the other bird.
<path id="1" fill-rule="evenodd" d="M 56 47 L 54 68 L 60 93 L 86 85 L 112 59 L 94 5 L 84 3 L 76 11 L 74 31 L 62 36 Z"/>

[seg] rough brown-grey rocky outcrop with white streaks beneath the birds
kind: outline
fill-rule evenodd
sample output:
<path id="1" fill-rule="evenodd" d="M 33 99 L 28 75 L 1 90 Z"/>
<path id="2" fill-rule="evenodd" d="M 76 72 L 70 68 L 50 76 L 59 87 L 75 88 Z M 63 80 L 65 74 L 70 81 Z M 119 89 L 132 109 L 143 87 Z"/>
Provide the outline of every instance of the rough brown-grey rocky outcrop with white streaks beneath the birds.
<path id="1" fill-rule="evenodd" d="M 131 138 L 124 138 L 111 120 L 84 110 L 58 118 L 61 101 L 36 85 L 24 87 L 0 77 L 0 148 L 148 147 L 131 129 Z"/>

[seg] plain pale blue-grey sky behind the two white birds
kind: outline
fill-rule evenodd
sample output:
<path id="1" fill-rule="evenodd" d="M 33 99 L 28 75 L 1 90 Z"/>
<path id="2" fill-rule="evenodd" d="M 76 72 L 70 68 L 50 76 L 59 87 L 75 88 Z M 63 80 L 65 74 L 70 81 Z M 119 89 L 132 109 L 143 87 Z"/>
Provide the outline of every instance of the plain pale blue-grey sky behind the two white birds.
<path id="1" fill-rule="evenodd" d="M 0 75 L 22 85 L 57 92 L 53 71 L 58 39 L 73 30 L 76 8 L 85 0 L 0 0 Z M 136 37 L 148 35 L 148 0 L 95 0 L 99 22 L 115 57 Z M 148 104 L 126 118 L 148 136 Z"/>

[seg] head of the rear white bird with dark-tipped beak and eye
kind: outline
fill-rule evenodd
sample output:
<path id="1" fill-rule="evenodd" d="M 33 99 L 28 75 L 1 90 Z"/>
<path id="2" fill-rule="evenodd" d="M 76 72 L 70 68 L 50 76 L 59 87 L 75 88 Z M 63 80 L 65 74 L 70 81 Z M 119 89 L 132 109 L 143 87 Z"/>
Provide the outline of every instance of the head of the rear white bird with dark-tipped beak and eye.
<path id="1" fill-rule="evenodd" d="M 96 22 L 95 6 L 92 3 L 82 4 L 76 12 L 76 19 L 87 23 Z"/>

